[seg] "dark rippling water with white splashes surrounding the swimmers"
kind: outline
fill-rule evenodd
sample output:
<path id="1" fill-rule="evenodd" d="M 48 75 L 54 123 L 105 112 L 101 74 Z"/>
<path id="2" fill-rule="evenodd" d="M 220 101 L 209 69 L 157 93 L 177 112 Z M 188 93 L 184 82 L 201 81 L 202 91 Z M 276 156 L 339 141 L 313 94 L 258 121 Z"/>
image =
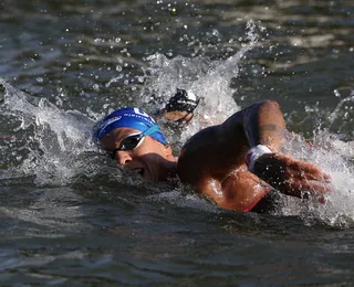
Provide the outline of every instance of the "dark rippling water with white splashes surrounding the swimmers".
<path id="1" fill-rule="evenodd" d="M 354 3 L 0 2 L 1 286 L 353 286 Z M 110 109 L 204 98 L 206 121 L 277 99 L 333 177 L 324 206 L 221 211 L 117 169 L 91 142 Z M 20 92 L 23 91 L 25 93 Z"/>

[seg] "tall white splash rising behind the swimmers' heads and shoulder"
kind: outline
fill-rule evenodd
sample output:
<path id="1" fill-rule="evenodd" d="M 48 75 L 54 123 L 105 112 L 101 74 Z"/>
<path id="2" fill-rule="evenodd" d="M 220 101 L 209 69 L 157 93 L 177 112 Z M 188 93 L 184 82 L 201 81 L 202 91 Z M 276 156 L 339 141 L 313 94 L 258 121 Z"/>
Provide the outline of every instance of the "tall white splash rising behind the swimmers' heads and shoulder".
<path id="1" fill-rule="evenodd" d="M 207 57 L 186 59 L 176 56 L 171 60 L 162 54 L 148 57 L 149 67 L 145 71 L 147 78 L 140 93 L 140 105 L 147 106 L 148 111 L 160 109 L 176 93 L 177 88 L 186 89 L 201 98 L 195 110 L 194 120 L 186 127 L 178 139 L 174 132 L 168 132 L 173 144 L 183 144 L 200 129 L 219 125 L 230 115 L 239 110 L 235 103 L 235 89 L 230 87 L 231 78 L 239 73 L 239 62 L 244 54 L 258 43 L 256 24 L 252 21 L 247 25 L 247 39 L 249 43 L 243 45 L 239 52 L 225 61 L 211 62 Z M 154 94 L 156 102 L 152 102 Z"/>

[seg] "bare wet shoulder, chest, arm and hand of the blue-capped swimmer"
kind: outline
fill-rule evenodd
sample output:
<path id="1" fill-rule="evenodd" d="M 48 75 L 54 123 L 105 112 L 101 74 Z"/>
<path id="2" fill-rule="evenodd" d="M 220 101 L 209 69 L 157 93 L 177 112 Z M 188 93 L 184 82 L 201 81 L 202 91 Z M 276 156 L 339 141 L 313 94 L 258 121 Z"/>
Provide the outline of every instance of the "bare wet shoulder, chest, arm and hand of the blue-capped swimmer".
<path id="1" fill-rule="evenodd" d="M 192 136 L 180 152 L 177 173 L 225 209 L 249 211 L 271 188 L 298 198 L 313 191 L 322 200 L 322 193 L 331 190 L 331 178 L 310 162 L 279 152 L 284 130 L 275 102 L 254 104 Z M 273 153 L 261 156 L 250 172 L 244 156 L 257 145 Z"/>

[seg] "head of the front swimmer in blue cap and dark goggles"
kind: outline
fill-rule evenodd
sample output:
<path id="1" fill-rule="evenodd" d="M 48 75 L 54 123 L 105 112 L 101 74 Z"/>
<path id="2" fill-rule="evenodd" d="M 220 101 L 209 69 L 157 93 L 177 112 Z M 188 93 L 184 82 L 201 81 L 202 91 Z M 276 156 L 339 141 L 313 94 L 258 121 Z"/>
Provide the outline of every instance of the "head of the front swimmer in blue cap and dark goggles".
<path id="1" fill-rule="evenodd" d="M 98 123 L 94 136 L 112 159 L 145 180 L 164 181 L 176 170 L 176 159 L 159 126 L 138 108 L 113 111 Z"/>

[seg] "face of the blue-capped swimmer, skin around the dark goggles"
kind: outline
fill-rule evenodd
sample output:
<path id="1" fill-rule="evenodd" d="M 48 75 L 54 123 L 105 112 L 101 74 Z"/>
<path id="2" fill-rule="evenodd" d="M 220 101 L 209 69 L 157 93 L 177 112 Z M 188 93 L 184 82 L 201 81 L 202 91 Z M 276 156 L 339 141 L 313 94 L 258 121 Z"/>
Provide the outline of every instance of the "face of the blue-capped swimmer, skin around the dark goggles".
<path id="1" fill-rule="evenodd" d="M 102 148 L 110 153 L 125 145 L 126 138 L 142 131 L 133 128 L 116 128 L 101 139 Z M 114 159 L 119 166 L 139 173 L 145 180 L 158 182 L 169 176 L 176 160 L 170 146 L 165 146 L 150 136 L 144 137 L 133 150 L 117 150 Z"/>

